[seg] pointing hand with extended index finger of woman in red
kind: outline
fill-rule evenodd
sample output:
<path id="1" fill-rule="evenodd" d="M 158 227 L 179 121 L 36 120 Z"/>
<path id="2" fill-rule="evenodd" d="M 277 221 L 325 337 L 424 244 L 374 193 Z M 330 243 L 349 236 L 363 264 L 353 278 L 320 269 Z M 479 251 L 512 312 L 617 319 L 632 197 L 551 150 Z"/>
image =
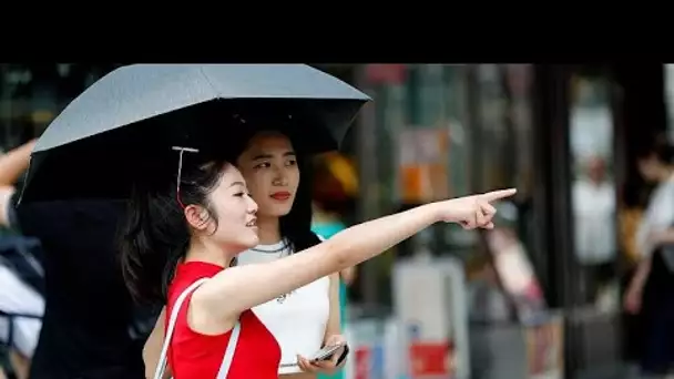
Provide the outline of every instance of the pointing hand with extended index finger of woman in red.
<path id="1" fill-rule="evenodd" d="M 492 218 L 497 209 L 490 204 L 504 197 L 510 197 L 517 190 L 492 191 L 486 194 L 452 198 L 438 202 L 440 219 L 447 223 L 458 223 L 464 229 L 493 228 Z"/>

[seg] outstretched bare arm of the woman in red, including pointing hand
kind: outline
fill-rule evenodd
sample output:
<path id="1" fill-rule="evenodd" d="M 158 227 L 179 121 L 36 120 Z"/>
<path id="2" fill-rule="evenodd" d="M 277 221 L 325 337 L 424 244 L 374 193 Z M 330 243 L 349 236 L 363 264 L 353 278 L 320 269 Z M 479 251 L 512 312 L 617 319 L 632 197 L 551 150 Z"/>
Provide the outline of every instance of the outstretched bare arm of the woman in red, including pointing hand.
<path id="1" fill-rule="evenodd" d="M 489 202 L 514 193 L 496 191 L 421 205 L 351 226 L 289 257 L 228 268 L 196 289 L 191 306 L 202 317 L 233 325 L 242 311 L 372 258 L 436 222 L 457 222 L 467 228 L 493 227 L 496 209 Z"/>

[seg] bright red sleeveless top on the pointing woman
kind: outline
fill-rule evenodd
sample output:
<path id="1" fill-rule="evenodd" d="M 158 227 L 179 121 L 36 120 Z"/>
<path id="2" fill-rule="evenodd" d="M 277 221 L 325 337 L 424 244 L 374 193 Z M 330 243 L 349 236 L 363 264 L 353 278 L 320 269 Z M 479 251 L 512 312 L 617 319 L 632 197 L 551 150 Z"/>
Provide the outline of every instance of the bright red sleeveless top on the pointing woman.
<path id="1" fill-rule="evenodd" d="M 223 268 L 204 262 L 178 264 L 176 275 L 168 287 L 168 305 L 165 325 L 175 300 L 192 283 L 212 277 Z M 168 348 L 168 367 L 175 379 L 215 379 L 229 341 L 232 331 L 217 336 L 196 332 L 187 325 L 187 305 L 192 294 L 183 303 Z M 280 361 L 280 347 L 252 310 L 241 315 L 241 334 L 229 368 L 229 379 L 276 379 Z M 164 331 L 166 331 L 164 329 Z"/>

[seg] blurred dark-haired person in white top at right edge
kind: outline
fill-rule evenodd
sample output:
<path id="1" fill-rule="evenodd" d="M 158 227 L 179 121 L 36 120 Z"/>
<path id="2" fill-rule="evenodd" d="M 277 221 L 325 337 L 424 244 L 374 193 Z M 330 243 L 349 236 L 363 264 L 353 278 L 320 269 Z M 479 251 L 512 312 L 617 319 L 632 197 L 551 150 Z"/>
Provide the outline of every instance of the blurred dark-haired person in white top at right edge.
<path id="1" fill-rule="evenodd" d="M 674 363 L 674 165 L 672 148 L 656 143 L 639 158 L 642 176 L 657 183 L 637 228 L 641 256 L 625 293 L 625 309 L 643 320 L 641 368 L 646 375 L 665 375 Z M 672 253 L 674 254 L 674 253 Z M 670 259 L 671 258 L 671 259 Z"/>

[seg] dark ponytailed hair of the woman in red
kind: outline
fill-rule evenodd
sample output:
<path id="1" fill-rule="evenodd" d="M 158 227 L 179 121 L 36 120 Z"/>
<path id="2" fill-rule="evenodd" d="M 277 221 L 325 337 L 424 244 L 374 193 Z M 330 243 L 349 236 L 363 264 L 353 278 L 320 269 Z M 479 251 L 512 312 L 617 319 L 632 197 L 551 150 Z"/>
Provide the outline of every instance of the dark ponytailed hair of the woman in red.
<path id="1" fill-rule="evenodd" d="M 208 202 L 222 177 L 226 161 L 197 164 L 185 154 L 181 174 L 180 199 L 201 205 L 217 223 Z M 168 165 L 167 165 L 168 166 Z M 119 245 L 124 280 L 139 303 L 166 304 L 166 289 L 175 266 L 185 257 L 191 232 L 178 203 L 176 165 L 152 167 L 134 183 Z"/>

